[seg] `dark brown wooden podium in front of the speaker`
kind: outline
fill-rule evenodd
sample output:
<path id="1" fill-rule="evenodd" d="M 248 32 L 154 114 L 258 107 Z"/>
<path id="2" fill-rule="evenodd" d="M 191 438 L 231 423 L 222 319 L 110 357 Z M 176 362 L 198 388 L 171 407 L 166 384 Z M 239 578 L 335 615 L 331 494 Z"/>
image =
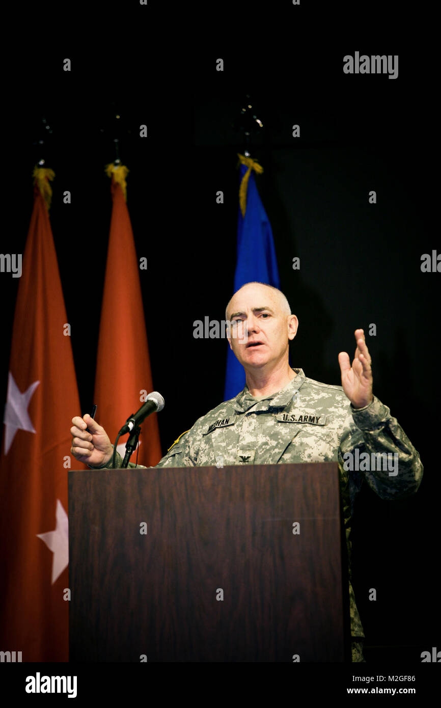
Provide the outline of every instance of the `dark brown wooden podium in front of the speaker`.
<path id="1" fill-rule="evenodd" d="M 350 661 L 338 480 L 336 462 L 70 471 L 69 661 Z"/>

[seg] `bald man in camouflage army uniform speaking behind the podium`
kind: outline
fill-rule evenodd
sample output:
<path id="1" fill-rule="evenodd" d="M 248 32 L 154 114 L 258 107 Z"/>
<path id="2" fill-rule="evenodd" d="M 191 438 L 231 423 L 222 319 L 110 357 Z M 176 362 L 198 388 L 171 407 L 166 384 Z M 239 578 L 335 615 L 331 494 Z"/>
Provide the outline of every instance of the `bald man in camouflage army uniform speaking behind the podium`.
<path id="1" fill-rule="evenodd" d="M 232 326 L 229 343 L 244 365 L 246 386 L 199 418 L 156 467 L 338 461 L 351 580 L 350 523 L 363 479 L 382 499 L 396 499 L 416 492 L 423 475 L 418 452 L 389 408 L 372 394 L 364 333 L 355 331 L 352 367 L 347 353 L 338 355 L 342 386 L 331 386 L 289 366 L 288 344 L 298 320 L 279 290 L 247 283 L 231 298 L 226 316 Z M 74 457 L 94 469 L 110 467 L 113 445 L 102 426 L 88 414 L 72 423 Z M 386 455 L 375 458 L 375 464 L 378 453 Z M 121 464 L 117 452 L 115 467 Z M 365 634 L 351 582 L 349 593 L 352 661 L 365 661 Z"/>

